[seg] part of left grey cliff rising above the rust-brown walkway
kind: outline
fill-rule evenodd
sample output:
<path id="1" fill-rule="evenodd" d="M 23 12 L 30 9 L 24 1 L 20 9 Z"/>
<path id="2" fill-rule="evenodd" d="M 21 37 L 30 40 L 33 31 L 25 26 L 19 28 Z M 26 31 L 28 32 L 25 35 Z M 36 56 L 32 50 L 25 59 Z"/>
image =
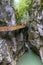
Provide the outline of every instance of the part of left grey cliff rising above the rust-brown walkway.
<path id="1" fill-rule="evenodd" d="M 1 0 L 0 2 L 0 23 L 7 26 L 16 25 L 15 12 L 10 5 L 10 0 Z"/>

